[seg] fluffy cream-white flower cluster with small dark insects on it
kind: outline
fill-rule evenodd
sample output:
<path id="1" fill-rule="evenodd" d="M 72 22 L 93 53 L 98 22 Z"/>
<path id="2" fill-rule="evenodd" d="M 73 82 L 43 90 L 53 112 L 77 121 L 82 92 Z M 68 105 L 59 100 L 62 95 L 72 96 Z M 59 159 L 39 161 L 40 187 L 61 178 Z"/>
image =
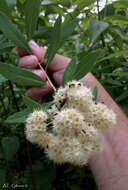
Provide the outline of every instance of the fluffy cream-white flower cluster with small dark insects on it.
<path id="1" fill-rule="evenodd" d="M 47 132 L 50 120 L 52 133 Z M 100 135 L 116 123 L 115 113 L 93 101 L 89 88 L 78 81 L 60 87 L 46 114 L 34 111 L 26 120 L 26 137 L 45 149 L 56 163 L 85 165 L 103 150 Z"/>

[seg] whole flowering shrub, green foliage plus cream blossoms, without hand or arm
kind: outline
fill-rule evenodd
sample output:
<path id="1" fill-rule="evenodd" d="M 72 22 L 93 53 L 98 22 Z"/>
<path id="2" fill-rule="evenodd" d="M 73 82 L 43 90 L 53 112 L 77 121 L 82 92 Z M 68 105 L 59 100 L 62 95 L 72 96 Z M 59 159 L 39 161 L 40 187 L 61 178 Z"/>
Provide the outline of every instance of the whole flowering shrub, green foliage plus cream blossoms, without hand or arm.
<path id="1" fill-rule="evenodd" d="M 16 183 L 30 190 L 96 188 L 86 163 L 102 151 L 99 134 L 112 127 L 115 116 L 92 101 L 96 87 L 94 98 L 78 81 L 91 71 L 124 110 L 128 107 L 127 0 L 108 0 L 102 10 L 100 2 L 0 0 L 0 189 Z M 51 81 L 56 92 L 42 105 L 24 96 L 24 87 L 46 82 L 31 69 L 17 67 L 16 46 L 30 55 L 31 39 L 48 47 L 47 66 L 56 53 L 72 59 L 61 87 L 56 91 Z M 50 82 L 47 66 L 42 69 Z M 86 165 L 86 172 L 73 165 Z"/>

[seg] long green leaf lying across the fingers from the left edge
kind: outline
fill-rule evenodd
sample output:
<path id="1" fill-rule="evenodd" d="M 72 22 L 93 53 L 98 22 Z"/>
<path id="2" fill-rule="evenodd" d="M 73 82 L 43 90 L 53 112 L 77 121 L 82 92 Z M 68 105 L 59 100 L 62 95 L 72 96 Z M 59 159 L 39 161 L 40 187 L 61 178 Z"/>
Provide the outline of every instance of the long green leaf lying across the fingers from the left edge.
<path id="1" fill-rule="evenodd" d="M 27 69 L 14 67 L 11 64 L 0 63 L 0 74 L 5 78 L 24 86 L 42 86 L 45 82 Z"/>

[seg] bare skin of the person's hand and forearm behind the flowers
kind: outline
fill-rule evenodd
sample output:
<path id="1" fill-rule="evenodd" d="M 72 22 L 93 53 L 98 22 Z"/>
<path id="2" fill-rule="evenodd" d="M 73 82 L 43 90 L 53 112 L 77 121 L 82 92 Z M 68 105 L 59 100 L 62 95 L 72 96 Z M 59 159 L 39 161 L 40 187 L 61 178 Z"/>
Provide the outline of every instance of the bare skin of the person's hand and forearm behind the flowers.
<path id="1" fill-rule="evenodd" d="M 27 55 L 26 52 L 17 48 L 21 56 L 19 67 L 32 68 L 35 74 L 39 75 L 43 80 L 46 80 L 45 73 L 37 69 L 38 62 L 43 66 L 46 63 L 44 59 L 45 49 L 39 47 L 34 41 L 29 42 L 29 47 L 32 55 Z M 56 54 L 52 63 L 49 65 L 48 72 L 56 86 L 61 85 L 64 70 L 69 62 L 69 58 Z M 104 151 L 89 160 L 95 181 L 99 190 L 127 190 L 128 118 L 91 73 L 88 73 L 81 81 L 90 88 L 98 86 L 97 101 L 105 102 L 105 104 L 110 109 L 113 109 L 117 115 L 117 124 L 115 127 L 102 135 Z M 46 101 L 44 96 L 51 89 L 51 86 L 47 83 L 47 85 L 43 87 L 29 88 L 26 95 L 42 104 Z"/>

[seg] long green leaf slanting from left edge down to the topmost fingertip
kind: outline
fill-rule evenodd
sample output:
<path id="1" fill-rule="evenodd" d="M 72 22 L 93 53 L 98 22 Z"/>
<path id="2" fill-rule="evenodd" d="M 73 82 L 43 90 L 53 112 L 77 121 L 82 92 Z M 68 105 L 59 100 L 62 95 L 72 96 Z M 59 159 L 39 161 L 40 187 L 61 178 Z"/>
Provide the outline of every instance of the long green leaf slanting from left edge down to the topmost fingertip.
<path id="1" fill-rule="evenodd" d="M 27 41 L 17 27 L 11 20 L 2 12 L 0 12 L 0 30 L 4 33 L 6 38 L 11 40 L 15 45 L 21 49 L 30 52 Z"/>

